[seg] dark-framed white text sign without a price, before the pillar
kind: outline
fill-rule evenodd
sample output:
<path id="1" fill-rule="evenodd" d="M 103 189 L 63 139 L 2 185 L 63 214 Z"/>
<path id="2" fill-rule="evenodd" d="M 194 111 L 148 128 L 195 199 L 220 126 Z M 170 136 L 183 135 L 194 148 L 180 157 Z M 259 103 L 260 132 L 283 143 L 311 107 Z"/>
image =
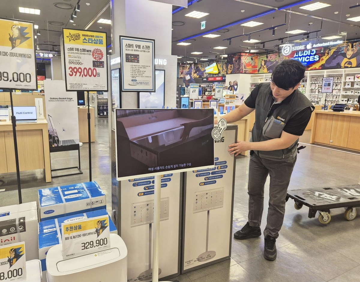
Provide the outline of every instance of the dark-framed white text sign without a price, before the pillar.
<path id="1" fill-rule="evenodd" d="M 155 40 L 120 36 L 121 90 L 155 92 Z"/>

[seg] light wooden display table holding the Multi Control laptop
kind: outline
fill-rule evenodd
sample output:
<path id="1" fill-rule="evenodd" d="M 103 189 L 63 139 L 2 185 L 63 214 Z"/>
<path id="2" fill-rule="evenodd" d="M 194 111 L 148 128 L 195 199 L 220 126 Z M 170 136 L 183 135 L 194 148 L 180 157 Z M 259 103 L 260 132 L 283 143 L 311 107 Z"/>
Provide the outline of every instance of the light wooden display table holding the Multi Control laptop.
<path id="1" fill-rule="evenodd" d="M 17 123 L 16 135 L 20 171 L 45 169 L 45 181 L 51 182 L 48 122 Z M 11 122 L 0 122 L 0 173 L 15 172 L 15 149 Z"/>

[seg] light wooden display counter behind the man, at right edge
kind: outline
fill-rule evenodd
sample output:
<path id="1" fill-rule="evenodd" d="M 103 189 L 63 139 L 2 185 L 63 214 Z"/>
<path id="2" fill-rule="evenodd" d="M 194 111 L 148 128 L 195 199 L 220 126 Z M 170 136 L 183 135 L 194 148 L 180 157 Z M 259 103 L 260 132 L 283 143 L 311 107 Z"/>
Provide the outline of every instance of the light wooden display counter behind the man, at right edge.
<path id="1" fill-rule="evenodd" d="M 310 143 L 360 151 L 360 111 L 314 111 Z"/>

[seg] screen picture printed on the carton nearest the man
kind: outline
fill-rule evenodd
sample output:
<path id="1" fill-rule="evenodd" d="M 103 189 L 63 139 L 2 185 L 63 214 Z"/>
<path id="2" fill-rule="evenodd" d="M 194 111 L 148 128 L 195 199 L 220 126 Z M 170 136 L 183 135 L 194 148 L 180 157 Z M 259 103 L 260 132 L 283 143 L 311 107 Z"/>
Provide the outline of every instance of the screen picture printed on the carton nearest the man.
<path id="1" fill-rule="evenodd" d="M 224 206 L 224 188 L 204 190 L 194 193 L 193 212 L 209 211 Z"/>

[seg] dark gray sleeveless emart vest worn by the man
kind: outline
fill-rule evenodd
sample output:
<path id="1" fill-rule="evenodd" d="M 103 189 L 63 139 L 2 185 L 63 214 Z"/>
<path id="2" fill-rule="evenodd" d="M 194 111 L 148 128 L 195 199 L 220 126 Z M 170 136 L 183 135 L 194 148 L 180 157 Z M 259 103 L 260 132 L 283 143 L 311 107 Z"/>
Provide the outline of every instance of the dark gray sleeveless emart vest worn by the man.
<path id="1" fill-rule="evenodd" d="M 271 104 L 273 103 L 273 95 L 271 92 L 270 82 L 263 83 L 259 89 L 256 98 L 255 123 L 251 132 L 251 142 L 266 141 L 274 138 L 280 138 L 283 129 L 294 115 L 300 111 L 311 107 L 311 111 L 315 109 L 312 103 L 299 90 L 291 94 L 287 101 L 277 107 L 273 114 L 267 118 Z M 297 142 L 290 147 L 282 150 L 274 151 L 255 151 L 259 157 L 273 160 L 292 159 L 297 153 Z"/>

